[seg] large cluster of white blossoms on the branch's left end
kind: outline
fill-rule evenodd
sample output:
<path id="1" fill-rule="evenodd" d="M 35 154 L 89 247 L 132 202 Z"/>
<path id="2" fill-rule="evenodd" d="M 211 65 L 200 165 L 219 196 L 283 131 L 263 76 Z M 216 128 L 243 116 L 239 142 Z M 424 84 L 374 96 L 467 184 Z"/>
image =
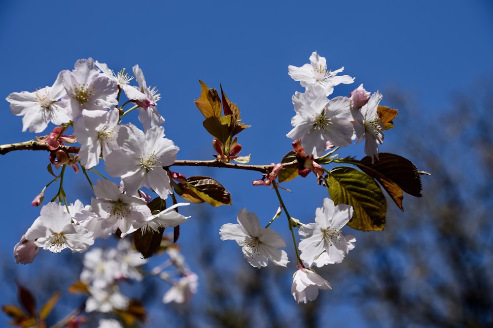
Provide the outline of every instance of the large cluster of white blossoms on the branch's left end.
<path id="1" fill-rule="evenodd" d="M 91 206 L 84 207 L 79 200 L 69 206 L 63 193 L 58 199 L 65 206 L 53 202 L 57 198 L 45 205 L 14 249 L 18 263 L 31 263 L 38 247 L 52 252 L 66 248 L 83 252 L 95 239 L 107 238 L 117 230 L 124 237 L 138 229 L 157 230 L 186 221 L 186 217 L 170 209 L 151 213 L 147 205 L 150 199 L 140 190 L 151 188 L 163 200 L 172 193 L 170 178 L 163 168 L 176 160 L 178 147 L 165 138 L 160 126 L 164 119 L 156 109 L 159 94 L 155 88 L 147 87 L 138 65 L 133 71 L 138 87 L 129 85 L 133 77 L 124 71 L 114 74 L 104 63 L 91 58 L 78 60 L 72 71 L 58 74 L 52 87 L 13 92 L 6 98 L 12 113 L 23 116 L 23 131 L 29 128 L 42 132 L 50 122 L 60 125 L 49 135 L 37 138 L 48 144 L 50 161 L 57 169 L 66 164 L 78 168 L 77 163 L 91 169 L 104 159 L 106 172 L 120 178 L 120 185 L 98 180 Z M 115 107 L 121 91 L 140 111 L 143 130 L 132 123 L 121 124 L 123 111 Z M 70 126 L 73 135 L 63 135 Z M 80 149 L 70 157 L 63 142 L 76 141 Z M 40 206 L 43 197 L 43 193 L 38 195 L 33 205 Z M 176 204 L 172 209 L 187 204 Z"/>

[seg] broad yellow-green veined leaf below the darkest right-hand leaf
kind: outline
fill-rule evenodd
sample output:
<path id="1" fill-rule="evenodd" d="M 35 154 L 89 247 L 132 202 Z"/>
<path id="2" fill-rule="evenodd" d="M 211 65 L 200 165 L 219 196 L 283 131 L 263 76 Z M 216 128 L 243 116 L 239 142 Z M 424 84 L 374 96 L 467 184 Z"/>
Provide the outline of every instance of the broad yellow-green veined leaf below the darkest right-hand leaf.
<path id="1" fill-rule="evenodd" d="M 357 230 L 385 228 L 387 201 L 382 189 L 365 173 L 347 166 L 329 172 L 327 188 L 335 205 L 352 205 L 354 213 L 348 225 Z"/>

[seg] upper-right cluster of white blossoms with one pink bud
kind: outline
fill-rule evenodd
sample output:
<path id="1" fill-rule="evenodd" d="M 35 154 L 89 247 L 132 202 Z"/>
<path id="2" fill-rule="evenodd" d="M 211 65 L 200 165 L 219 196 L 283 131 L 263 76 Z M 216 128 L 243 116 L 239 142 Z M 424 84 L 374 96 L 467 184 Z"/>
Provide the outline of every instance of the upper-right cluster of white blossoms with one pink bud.
<path id="1" fill-rule="evenodd" d="M 327 150 L 327 142 L 335 147 L 349 146 L 354 139 L 365 141 L 365 153 L 378 160 L 378 146 L 384 141 L 384 125 L 377 115 L 382 95 L 377 91 L 370 96 L 363 85 L 349 97 L 334 97 L 334 86 L 351 84 L 354 78 L 339 76 L 344 67 L 327 71 L 326 60 L 317 52 L 310 56 L 310 64 L 288 66 L 289 75 L 300 81 L 305 92 L 295 92 L 292 97 L 296 115 L 291 119 L 293 129 L 288 138 L 301 139 L 303 148 L 316 158 Z"/>

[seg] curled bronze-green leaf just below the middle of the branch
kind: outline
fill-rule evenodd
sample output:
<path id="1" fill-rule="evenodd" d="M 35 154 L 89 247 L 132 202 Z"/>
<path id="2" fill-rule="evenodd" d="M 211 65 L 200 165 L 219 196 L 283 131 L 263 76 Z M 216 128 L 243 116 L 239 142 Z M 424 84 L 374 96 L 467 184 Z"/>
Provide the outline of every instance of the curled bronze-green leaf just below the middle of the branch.
<path id="1" fill-rule="evenodd" d="M 203 176 L 193 176 L 186 179 L 186 185 L 195 195 L 214 207 L 231 205 L 230 193 L 215 179 Z M 186 199 L 186 198 L 185 198 Z"/>

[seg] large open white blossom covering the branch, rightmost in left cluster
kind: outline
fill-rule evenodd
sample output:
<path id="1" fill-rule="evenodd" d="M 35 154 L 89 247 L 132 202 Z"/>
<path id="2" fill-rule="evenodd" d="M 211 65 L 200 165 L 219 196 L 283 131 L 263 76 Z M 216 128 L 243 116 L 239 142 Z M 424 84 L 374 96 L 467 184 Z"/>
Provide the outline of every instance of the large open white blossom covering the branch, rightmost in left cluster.
<path id="1" fill-rule="evenodd" d="M 164 138 L 164 128 L 153 126 L 144 134 L 133 124 L 122 125 L 117 141 L 120 149 L 106 156 L 106 172 L 121 177 L 128 194 L 145 186 L 166 199 L 173 190 L 163 167 L 175 162 L 179 148 Z"/>

